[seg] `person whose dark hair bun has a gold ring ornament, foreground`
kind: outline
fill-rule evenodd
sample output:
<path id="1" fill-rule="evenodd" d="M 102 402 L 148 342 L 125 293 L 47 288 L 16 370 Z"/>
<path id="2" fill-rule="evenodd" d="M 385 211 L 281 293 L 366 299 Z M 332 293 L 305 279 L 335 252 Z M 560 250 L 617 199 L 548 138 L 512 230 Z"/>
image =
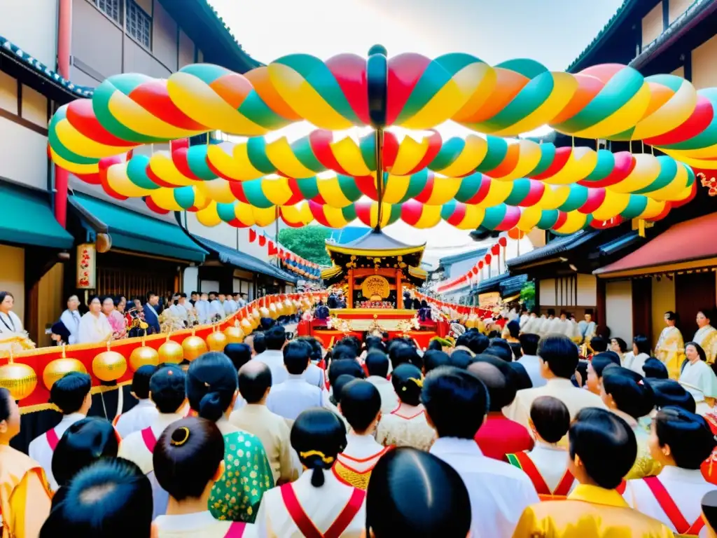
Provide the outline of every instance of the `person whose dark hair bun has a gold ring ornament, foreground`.
<path id="1" fill-rule="evenodd" d="M 159 538 L 249 536 L 247 531 L 254 530 L 243 522 L 214 519 L 208 509 L 214 483 L 224 474 L 224 439 L 212 421 L 184 418 L 169 425 L 152 459 L 159 486 L 168 494 L 166 512 L 154 520 Z"/>

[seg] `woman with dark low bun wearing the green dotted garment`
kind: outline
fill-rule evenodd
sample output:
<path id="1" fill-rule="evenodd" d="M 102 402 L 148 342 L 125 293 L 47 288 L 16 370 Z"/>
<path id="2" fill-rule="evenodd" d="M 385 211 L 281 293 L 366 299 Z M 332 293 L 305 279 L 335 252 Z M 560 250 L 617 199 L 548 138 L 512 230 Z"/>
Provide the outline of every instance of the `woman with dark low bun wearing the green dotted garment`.
<path id="1" fill-rule="evenodd" d="M 186 372 L 189 405 L 199 417 L 217 423 L 224 436 L 226 470 L 222 479 L 214 484 L 209 497 L 209 510 L 217 519 L 253 522 L 262 494 L 274 486 L 274 477 L 261 440 L 239 430 L 228 420 L 238 394 L 237 387 L 237 370 L 223 353 L 209 351 L 189 364 Z M 247 471 L 237 477 L 237 468 L 242 466 Z M 232 475 L 229 476 L 229 473 Z M 255 476 L 248 473 L 255 473 Z M 232 483 L 233 478 L 237 478 L 242 487 L 253 487 L 250 491 L 244 489 L 246 494 L 243 497 L 234 495 L 232 487 L 236 486 Z"/>

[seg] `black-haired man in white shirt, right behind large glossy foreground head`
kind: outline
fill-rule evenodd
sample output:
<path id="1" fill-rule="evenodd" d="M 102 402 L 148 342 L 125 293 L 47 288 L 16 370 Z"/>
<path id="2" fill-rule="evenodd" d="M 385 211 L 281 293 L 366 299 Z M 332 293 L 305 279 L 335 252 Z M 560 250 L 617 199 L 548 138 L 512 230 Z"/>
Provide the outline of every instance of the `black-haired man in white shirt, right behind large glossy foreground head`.
<path id="1" fill-rule="evenodd" d="M 471 536 L 511 538 L 523 510 L 538 502 L 530 478 L 510 463 L 483 456 L 475 435 L 488 414 L 488 390 L 462 369 L 442 367 L 424 379 L 426 420 L 438 435 L 429 450 L 454 468 L 470 496 Z"/>

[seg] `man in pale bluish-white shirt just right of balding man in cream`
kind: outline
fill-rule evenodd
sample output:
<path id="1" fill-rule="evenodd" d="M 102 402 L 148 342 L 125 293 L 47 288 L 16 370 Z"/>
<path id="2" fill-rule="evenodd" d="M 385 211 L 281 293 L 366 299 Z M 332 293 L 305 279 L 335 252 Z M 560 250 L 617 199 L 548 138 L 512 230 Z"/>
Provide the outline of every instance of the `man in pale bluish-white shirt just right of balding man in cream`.
<path id="1" fill-rule="evenodd" d="M 270 341 L 268 336 L 267 341 Z M 309 407 L 323 407 L 323 392 L 304 379 L 303 374 L 310 362 L 306 344 L 300 341 L 289 342 L 284 347 L 283 358 L 288 378 L 280 384 L 272 385 L 267 407 L 277 415 L 296 420 L 300 412 Z M 268 366 L 271 368 L 271 365 Z M 272 370 L 272 378 L 273 374 Z"/>

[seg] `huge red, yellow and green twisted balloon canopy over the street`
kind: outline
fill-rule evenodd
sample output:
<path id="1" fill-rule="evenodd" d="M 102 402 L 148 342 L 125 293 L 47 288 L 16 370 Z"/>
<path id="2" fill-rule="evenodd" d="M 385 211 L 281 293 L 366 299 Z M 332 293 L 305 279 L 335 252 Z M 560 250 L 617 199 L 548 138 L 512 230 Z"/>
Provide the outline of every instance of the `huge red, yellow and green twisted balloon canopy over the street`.
<path id="1" fill-rule="evenodd" d="M 688 202 L 690 166 L 717 169 L 716 107 L 717 88 L 624 65 L 569 74 L 459 53 L 387 58 L 374 47 L 368 59 L 290 55 L 245 75 L 205 64 L 166 80 L 116 75 L 91 100 L 57 110 L 49 146 L 55 164 L 114 197 L 195 211 L 204 225 L 268 225 L 279 215 L 291 226 L 443 220 L 570 233 L 658 220 Z M 293 142 L 265 136 L 299 121 L 316 129 Z M 476 134 L 446 140 L 433 130 L 446 121 Z M 544 125 L 663 155 L 503 138 Z M 374 131 L 332 132 L 356 126 Z M 431 131 L 401 137 L 391 126 Z M 189 145 L 216 130 L 249 138 Z"/>

